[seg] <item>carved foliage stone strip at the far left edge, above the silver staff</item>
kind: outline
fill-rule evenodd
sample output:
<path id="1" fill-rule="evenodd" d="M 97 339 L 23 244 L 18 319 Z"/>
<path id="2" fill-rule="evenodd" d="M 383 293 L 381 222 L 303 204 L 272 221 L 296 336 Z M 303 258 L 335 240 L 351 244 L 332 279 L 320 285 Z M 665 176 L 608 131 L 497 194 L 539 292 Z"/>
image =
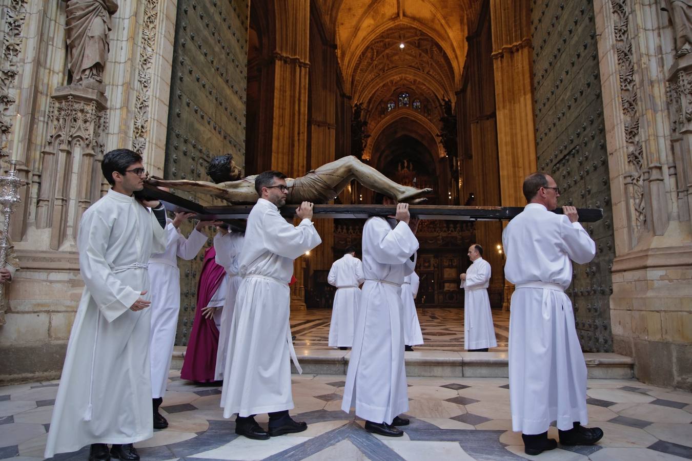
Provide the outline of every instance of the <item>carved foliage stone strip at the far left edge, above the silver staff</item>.
<path id="1" fill-rule="evenodd" d="M 13 124 L 11 113 L 17 112 L 14 107 L 17 96 L 12 95 L 12 88 L 17 88 L 19 75 L 19 53 L 24 40 L 22 30 L 26 21 L 26 5 L 28 0 L 10 0 L 3 16 L 3 44 L 0 59 L 0 155 L 8 154 L 6 142 L 10 138 Z M 17 135 L 17 133 L 15 133 Z"/>

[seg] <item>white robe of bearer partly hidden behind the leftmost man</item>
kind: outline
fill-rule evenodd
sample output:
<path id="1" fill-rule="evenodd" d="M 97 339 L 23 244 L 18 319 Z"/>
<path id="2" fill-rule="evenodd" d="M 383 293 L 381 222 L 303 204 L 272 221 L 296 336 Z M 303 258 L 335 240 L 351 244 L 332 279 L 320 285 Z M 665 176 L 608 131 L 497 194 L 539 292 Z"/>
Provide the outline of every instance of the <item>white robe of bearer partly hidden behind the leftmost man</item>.
<path id="1" fill-rule="evenodd" d="M 170 370 L 175 332 L 180 312 L 180 270 L 178 258 L 190 260 L 197 256 L 207 241 L 207 236 L 192 229 L 185 238 L 180 229 L 167 219 L 166 250 L 152 254 L 149 259 L 149 281 L 151 283 L 152 332 L 149 340 L 149 360 L 152 368 L 152 398 L 166 393 L 168 370 Z"/>

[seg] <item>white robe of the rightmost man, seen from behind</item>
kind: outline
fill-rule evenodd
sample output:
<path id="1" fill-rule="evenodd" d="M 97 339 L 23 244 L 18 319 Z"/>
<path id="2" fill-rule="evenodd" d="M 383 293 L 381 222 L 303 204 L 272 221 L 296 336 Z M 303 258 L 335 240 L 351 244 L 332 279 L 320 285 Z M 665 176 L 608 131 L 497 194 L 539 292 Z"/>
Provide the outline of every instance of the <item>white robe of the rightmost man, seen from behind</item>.
<path id="1" fill-rule="evenodd" d="M 586 364 L 574 328 L 570 260 L 585 264 L 596 244 L 579 223 L 530 203 L 502 233 L 504 274 L 516 285 L 509 317 L 513 431 L 539 434 L 588 423 Z"/>

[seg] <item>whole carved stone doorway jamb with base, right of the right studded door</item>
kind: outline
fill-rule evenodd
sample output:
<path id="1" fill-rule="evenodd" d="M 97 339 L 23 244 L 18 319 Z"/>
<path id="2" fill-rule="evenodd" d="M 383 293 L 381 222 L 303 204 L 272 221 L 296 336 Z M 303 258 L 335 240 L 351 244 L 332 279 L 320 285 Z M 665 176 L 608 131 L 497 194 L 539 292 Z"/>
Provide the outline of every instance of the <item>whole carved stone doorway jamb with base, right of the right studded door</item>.
<path id="1" fill-rule="evenodd" d="M 594 1 L 616 253 L 610 316 L 615 352 L 634 357 L 638 379 L 691 390 L 692 58 L 676 57 L 659 6 Z"/>

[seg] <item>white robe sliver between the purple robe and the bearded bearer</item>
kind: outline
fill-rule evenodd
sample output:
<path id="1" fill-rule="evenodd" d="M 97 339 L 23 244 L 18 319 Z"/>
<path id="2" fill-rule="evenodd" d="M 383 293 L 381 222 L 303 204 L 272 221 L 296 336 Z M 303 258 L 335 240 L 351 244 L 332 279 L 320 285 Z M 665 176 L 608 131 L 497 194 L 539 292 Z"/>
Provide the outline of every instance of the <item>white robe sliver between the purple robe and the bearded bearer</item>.
<path id="1" fill-rule="evenodd" d="M 221 309 L 221 327 L 219 328 L 219 348 L 217 349 L 217 364 L 214 379 L 224 379 L 226 368 L 226 352 L 228 335 L 230 335 L 230 323 L 233 320 L 233 307 L 235 297 L 240 287 L 242 278 L 238 274 L 240 266 L 240 250 L 242 250 L 244 235 L 240 232 L 220 232 L 214 236 L 214 248 L 216 249 L 216 263 L 226 269 L 228 283 L 226 284 L 226 302 Z"/>

